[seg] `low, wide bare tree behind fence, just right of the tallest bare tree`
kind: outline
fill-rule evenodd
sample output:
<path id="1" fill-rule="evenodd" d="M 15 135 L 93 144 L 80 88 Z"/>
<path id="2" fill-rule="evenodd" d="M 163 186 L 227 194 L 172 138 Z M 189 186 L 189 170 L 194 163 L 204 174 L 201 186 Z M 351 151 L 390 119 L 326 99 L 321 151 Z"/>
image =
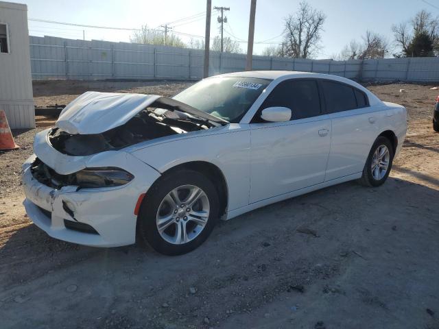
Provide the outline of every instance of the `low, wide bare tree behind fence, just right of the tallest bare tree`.
<path id="1" fill-rule="evenodd" d="M 368 60 L 384 58 L 386 53 L 388 53 L 388 41 L 385 37 L 368 30 L 361 37 L 361 42 L 351 40 L 336 58 L 339 60 Z"/>

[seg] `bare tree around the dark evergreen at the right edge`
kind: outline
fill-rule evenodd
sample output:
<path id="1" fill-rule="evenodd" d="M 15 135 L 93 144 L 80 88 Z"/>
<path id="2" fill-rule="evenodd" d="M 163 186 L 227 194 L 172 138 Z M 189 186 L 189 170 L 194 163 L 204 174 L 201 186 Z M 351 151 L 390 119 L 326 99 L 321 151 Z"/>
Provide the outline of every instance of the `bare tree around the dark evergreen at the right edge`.
<path id="1" fill-rule="evenodd" d="M 409 21 L 392 26 L 394 42 L 401 49 L 395 56 L 412 56 L 413 42 L 420 35 L 428 36 L 431 47 L 439 48 L 439 17 L 434 17 L 430 12 L 421 10 Z"/>

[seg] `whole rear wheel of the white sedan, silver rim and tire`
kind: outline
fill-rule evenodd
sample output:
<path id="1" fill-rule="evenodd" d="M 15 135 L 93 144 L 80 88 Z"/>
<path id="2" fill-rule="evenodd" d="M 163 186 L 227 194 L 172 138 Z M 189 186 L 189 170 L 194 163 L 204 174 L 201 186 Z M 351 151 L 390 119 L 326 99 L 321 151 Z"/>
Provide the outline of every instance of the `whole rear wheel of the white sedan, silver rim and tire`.
<path id="1" fill-rule="evenodd" d="M 370 149 L 360 183 L 364 186 L 382 185 L 392 169 L 393 156 L 394 149 L 388 138 L 379 136 Z"/>

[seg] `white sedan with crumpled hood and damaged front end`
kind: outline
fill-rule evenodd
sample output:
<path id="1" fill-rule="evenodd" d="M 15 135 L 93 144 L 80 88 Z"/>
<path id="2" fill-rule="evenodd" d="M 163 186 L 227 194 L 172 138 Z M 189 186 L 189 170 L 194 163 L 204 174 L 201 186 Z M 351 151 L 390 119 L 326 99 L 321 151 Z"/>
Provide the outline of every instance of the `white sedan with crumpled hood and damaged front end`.
<path id="1" fill-rule="evenodd" d="M 56 239 L 112 247 L 139 234 L 184 254 L 220 218 L 348 180 L 383 184 L 406 130 L 403 106 L 333 75 L 229 73 L 173 98 L 87 92 L 36 134 L 23 204 Z"/>

